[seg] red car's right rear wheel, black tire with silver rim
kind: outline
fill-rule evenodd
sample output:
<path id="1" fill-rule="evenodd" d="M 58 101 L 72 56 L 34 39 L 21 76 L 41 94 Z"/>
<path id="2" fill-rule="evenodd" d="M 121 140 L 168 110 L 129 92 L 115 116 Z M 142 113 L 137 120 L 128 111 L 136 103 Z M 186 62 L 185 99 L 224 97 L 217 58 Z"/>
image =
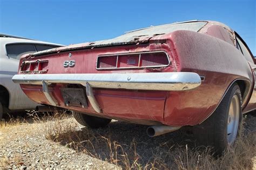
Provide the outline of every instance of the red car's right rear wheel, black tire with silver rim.
<path id="1" fill-rule="evenodd" d="M 193 133 L 199 143 L 212 146 L 217 155 L 232 146 L 241 128 L 241 103 L 239 86 L 233 84 L 213 114 L 194 127 Z"/>

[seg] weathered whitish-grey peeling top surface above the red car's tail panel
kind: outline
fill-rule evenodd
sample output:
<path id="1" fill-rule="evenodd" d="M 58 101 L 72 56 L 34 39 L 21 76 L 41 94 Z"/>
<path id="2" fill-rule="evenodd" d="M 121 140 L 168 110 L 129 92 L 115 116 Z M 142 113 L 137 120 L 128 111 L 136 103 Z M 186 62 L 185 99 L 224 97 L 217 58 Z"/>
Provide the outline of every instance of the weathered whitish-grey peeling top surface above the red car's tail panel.
<path id="1" fill-rule="evenodd" d="M 146 43 L 150 38 L 157 35 L 164 35 L 166 33 L 171 33 L 178 30 L 188 30 L 198 32 L 204 25 L 206 21 L 190 21 L 183 23 L 173 23 L 159 26 L 151 26 L 149 28 L 129 31 L 122 36 L 99 40 L 96 42 L 74 44 L 65 47 L 58 47 L 56 49 L 50 49 L 45 51 L 40 51 L 33 53 L 31 56 L 39 56 L 47 53 L 55 53 L 61 51 L 77 50 L 77 49 L 88 49 L 91 47 L 102 47 L 102 46 L 113 46 L 113 45 L 123 45 L 123 44 L 136 44 L 136 43 Z"/>

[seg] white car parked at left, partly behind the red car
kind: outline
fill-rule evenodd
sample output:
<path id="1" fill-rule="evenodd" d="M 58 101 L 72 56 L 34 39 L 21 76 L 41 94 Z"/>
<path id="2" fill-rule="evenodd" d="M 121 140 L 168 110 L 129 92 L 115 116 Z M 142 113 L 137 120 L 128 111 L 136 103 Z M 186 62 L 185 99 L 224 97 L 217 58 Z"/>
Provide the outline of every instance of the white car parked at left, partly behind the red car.
<path id="1" fill-rule="evenodd" d="M 38 105 L 11 80 L 12 76 L 17 74 L 19 58 L 25 53 L 59 46 L 63 45 L 0 33 L 0 119 L 4 113 L 35 109 Z"/>

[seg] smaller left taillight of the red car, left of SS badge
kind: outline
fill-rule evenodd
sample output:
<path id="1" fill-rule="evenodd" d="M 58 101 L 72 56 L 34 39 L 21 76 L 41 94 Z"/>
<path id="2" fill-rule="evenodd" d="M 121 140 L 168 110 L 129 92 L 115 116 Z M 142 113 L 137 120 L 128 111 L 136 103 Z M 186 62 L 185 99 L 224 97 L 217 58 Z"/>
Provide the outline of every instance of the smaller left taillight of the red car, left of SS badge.
<path id="1" fill-rule="evenodd" d="M 44 73 L 47 72 L 48 60 L 26 62 L 21 65 L 21 73 Z"/>

